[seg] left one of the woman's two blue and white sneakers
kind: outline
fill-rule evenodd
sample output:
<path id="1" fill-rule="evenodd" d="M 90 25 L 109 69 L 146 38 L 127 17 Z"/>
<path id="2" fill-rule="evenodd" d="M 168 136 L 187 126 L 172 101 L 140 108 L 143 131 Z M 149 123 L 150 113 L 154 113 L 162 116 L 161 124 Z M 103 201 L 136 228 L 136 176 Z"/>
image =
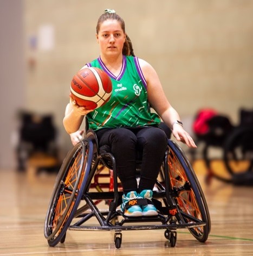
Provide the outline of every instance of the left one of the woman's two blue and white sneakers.
<path id="1" fill-rule="evenodd" d="M 128 192 L 127 195 L 122 196 L 121 210 L 127 217 L 139 217 L 142 216 L 142 209 L 137 204 L 139 196 L 136 191 Z"/>

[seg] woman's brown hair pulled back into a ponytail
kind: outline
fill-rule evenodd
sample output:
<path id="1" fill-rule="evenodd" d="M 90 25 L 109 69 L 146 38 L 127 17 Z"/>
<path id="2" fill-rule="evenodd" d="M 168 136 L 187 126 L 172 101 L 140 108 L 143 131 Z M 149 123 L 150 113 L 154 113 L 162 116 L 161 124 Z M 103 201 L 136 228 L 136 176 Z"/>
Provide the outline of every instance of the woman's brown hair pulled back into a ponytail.
<path id="1" fill-rule="evenodd" d="M 126 34 L 125 21 L 118 14 L 108 13 L 108 12 L 102 14 L 99 17 L 98 23 L 96 24 L 96 34 L 99 33 L 101 23 L 103 23 L 106 20 L 119 21 L 123 32 Z M 126 41 L 125 41 L 123 49 L 122 49 L 122 54 L 127 55 L 127 56 L 129 56 L 129 55 L 135 56 L 134 52 L 133 52 L 133 45 L 132 45 L 131 39 L 129 38 L 129 36 L 127 34 L 126 34 Z"/>

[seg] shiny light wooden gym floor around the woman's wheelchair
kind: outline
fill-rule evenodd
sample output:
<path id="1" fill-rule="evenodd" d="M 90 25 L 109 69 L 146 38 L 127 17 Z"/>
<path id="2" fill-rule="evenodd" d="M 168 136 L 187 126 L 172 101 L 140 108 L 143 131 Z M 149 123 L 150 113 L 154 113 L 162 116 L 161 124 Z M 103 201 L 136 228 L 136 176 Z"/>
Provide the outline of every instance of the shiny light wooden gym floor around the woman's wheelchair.
<path id="1" fill-rule="evenodd" d="M 187 229 L 178 229 L 176 247 L 167 246 L 164 230 L 122 232 L 120 249 L 114 232 L 68 231 L 66 241 L 49 247 L 44 218 L 55 174 L 31 180 L 15 171 L 0 171 L 0 255 L 253 255 L 253 187 L 204 182 L 203 163 L 193 165 L 211 215 L 211 233 L 200 243 Z"/>

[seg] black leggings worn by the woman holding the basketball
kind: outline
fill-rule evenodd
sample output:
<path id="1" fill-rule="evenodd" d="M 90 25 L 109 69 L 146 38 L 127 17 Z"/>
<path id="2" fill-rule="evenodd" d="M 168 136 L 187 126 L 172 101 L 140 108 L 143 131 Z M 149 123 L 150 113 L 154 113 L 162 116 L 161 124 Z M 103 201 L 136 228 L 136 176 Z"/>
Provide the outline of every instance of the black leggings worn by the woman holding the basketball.
<path id="1" fill-rule="evenodd" d="M 101 129 L 96 132 L 99 147 L 109 146 L 116 160 L 118 177 L 124 193 L 153 190 L 167 147 L 167 136 L 158 127 Z M 141 154 L 139 188 L 136 161 Z"/>

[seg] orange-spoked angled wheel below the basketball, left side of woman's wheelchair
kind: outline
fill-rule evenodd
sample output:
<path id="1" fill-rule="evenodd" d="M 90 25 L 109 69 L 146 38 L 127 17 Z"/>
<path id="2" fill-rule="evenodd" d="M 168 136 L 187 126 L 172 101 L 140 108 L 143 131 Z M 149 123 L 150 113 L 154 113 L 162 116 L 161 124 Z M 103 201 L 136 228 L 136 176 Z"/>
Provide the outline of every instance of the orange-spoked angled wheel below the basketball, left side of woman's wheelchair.
<path id="1" fill-rule="evenodd" d="M 50 246 L 64 241 L 67 228 L 80 203 L 92 165 L 92 157 L 93 143 L 90 140 L 83 140 L 69 151 L 63 161 L 44 224 L 44 236 Z"/>

